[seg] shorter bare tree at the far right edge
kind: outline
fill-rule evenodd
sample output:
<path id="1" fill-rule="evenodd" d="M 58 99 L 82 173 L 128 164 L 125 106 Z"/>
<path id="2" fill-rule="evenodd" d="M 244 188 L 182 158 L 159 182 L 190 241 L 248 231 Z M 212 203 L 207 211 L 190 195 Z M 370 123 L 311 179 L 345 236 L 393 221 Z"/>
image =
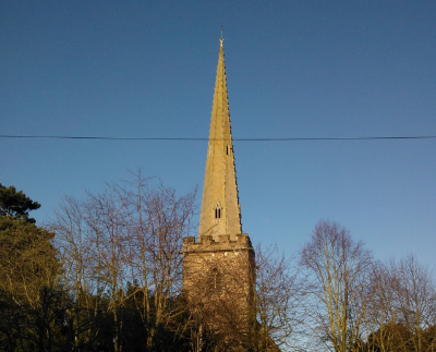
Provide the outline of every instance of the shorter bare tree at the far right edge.
<path id="1" fill-rule="evenodd" d="M 436 291 L 428 268 L 412 255 L 375 266 L 366 309 L 370 351 L 431 351 L 435 340 Z"/>

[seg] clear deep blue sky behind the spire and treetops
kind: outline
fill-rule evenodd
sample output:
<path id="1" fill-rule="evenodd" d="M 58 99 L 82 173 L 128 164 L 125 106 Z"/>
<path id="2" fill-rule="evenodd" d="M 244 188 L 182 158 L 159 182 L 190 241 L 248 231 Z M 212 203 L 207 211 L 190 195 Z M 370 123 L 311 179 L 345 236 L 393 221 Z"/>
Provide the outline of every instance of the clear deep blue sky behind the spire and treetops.
<path id="1" fill-rule="evenodd" d="M 436 2 L 1 1 L 0 134 L 208 137 L 223 26 L 233 138 L 436 135 Z M 207 142 L 0 137 L 41 203 L 128 169 L 203 187 Z M 234 142 L 243 231 L 296 253 L 319 219 L 436 269 L 436 139 Z M 201 197 L 198 197 L 198 203 Z"/>

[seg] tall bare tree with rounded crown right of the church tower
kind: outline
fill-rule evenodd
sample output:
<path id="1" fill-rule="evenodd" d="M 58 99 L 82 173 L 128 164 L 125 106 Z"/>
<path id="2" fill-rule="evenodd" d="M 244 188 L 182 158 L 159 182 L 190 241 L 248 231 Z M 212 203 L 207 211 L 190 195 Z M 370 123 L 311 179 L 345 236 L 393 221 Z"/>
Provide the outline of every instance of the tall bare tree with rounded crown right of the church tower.
<path id="1" fill-rule="evenodd" d="M 361 328 L 368 300 L 372 254 L 355 243 L 336 222 L 319 221 L 301 251 L 307 270 L 305 313 L 314 336 L 336 352 L 353 351 L 361 343 Z"/>

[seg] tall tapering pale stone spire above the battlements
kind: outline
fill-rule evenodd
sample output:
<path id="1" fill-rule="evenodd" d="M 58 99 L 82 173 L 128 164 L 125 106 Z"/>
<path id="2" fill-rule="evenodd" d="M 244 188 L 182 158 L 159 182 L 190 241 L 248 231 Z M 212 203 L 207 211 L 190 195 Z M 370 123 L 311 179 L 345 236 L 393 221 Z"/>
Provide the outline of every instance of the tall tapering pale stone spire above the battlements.
<path id="1" fill-rule="evenodd" d="M 211 109 L 206 175 L 203 189 L 199 239 L 229 234 L 231 241 L 242 233 L 233 145 L 227 96 L 223 39 L 219 39 L 219 58 Z"/>

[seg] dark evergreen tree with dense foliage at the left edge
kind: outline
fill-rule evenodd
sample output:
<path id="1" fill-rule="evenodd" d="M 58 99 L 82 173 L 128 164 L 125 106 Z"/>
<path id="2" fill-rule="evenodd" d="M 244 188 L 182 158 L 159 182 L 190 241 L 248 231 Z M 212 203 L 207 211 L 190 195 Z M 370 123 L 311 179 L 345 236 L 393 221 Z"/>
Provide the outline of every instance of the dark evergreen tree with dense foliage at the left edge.
<path id="1" fill-rule="evenodd" d="M 0 350 L 55 351 L 64 299 L 58 288 L 55 234 L 29 221 L 27 211 L 39 204 L 14 190 L 2 187 Z"/>

